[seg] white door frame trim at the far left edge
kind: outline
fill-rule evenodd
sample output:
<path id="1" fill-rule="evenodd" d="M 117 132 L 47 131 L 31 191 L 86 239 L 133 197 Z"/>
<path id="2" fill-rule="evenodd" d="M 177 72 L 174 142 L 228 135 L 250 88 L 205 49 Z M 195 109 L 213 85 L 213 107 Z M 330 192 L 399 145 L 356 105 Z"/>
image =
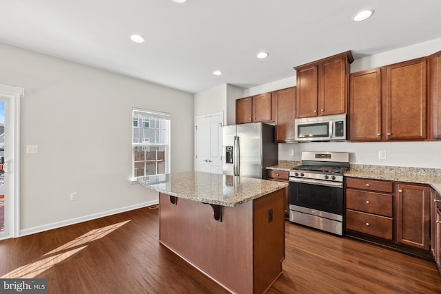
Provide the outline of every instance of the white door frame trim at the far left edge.
<path id="1" fill-rule="evenodd" d="M 8 134 L 10 140 L 9 142 L 5 140 L 5 144 L 8 144 L 5 145 L 5 149 L 10 149 L 10 155 L 5 160 L 10 160 L 9 170 L 11 171 L 8 181 L 5 182 L 7 192 L 5 193 L 5 211 L 7 213 L 5 213 L 5 232 L 1 233 L 0 240 L 16 238 L 20 235 L 20 100 L 23 97 L 22 87 L 0 84 L 0 98 L 7 102 L 5 103 L 5 125 L 7 125 L 7 131 L 10 129 Z"/>

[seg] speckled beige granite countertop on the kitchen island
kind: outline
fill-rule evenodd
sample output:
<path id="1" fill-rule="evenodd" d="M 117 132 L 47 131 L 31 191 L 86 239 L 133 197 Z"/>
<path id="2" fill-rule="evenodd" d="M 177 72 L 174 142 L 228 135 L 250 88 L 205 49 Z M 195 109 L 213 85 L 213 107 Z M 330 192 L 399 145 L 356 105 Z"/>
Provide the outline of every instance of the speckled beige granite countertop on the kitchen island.
<path id="1" fill-rule="evenodd" d="M 260 180 L 199 171 L 138 178 L 145 187 L 178 198 L 235 207 L 288 187 L 286 182 Z"/>

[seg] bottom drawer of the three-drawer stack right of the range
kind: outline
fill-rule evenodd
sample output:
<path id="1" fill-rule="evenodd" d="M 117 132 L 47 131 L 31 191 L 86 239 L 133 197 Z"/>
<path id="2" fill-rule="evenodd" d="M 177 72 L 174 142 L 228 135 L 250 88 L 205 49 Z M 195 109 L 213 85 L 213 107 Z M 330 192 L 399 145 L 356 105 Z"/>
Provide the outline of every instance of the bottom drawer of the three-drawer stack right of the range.
<path id="1" fill-rule="evenodd" d="M 346 229 L 392 240 L 392 218 L 346 209 Z"/>

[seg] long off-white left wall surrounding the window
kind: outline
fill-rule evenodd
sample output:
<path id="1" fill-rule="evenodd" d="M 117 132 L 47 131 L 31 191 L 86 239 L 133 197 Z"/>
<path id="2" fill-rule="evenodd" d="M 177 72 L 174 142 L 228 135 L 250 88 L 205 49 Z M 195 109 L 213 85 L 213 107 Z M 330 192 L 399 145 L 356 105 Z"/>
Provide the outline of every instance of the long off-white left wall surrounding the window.
<path id="1" fill-rule="evenodd" d="M 193 169 L 193 95 L 0 44 L 0 83 L 21 101 L 21 230 L 32 233 L 141 207 L 130 185 L 132 107 L 172 115 L 172 171 Z M 26 145 L 38 154 L 26 154 Z M 70 201 L 70 192 L 78 200 Z"/>

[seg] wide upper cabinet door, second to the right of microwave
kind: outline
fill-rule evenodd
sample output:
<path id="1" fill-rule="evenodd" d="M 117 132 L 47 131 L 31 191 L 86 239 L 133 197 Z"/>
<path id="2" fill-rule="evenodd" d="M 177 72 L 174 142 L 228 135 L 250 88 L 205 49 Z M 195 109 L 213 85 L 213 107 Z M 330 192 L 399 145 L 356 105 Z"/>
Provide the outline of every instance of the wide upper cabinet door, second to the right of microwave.
<path id="1" fill-rule="evenodd" d="M 387 66 L 387 140 L 427 138 L 427 59 Z"/>

